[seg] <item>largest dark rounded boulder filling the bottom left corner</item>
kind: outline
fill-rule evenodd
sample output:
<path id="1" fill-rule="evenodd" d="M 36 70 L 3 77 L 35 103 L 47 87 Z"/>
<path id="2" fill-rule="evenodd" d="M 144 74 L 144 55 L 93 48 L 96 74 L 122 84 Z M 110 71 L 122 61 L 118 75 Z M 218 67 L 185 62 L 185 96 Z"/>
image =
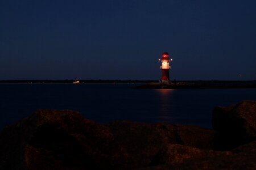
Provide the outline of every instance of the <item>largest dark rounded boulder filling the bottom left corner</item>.
<path id="1" fill-rule="evenodd" d="M 0 169 L 129 169 L 108 128 L 73 111 L 38 110 L 3 129 Z"/>

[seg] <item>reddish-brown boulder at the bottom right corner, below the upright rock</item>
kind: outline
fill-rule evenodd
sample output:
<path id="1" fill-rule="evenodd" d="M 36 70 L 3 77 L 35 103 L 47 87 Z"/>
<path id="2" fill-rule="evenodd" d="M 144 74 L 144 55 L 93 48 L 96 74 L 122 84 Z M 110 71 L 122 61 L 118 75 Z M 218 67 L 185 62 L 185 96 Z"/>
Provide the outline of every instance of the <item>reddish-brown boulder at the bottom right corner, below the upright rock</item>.
<path id="1" fill-rule="evenodd" d="M 170 145 L 162 155 L 165 164 L 140 170 L 214 170 L 256 169 L 256 142 L 226 152 L 206 151 L 187 146 Z"/>

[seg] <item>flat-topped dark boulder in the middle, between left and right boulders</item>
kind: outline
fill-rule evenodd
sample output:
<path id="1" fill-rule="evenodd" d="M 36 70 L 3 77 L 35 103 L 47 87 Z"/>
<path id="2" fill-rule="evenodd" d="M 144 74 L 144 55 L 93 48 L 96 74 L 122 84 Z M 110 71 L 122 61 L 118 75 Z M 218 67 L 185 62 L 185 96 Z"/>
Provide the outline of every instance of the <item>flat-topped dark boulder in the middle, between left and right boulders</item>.
<path id="1" fill-rule="evenodd" d="M 131 156 L 134 168 L 155 165 L 155 156 L 171 143 L 213 149 L 216 133 L 189 125 L 114 121 L 108 125 L 114 138 Z"/>

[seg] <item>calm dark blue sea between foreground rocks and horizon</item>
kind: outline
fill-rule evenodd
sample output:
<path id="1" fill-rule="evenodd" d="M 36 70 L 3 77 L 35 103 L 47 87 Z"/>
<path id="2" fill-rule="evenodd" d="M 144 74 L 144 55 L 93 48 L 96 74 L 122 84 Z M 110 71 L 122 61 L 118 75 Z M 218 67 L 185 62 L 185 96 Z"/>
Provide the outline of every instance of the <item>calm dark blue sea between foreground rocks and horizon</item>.
<path id="1" fill-rule="evenodd" d="M 214 106 L 256 100 L 256 89 L 150 90 L 136 84 L 0 84 L 0 129 L 36 109 L 70 109 L 102 124 L 114 120 L 211 128 Z"/>

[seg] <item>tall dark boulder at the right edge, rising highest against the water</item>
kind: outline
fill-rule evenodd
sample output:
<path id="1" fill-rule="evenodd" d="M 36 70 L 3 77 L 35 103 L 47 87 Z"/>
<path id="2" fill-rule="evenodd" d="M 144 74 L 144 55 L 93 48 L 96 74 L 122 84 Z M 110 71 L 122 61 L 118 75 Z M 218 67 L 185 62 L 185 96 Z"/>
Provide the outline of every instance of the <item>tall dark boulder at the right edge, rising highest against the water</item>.
<path id="1" fill-rule="evenodd" d="M 256 101 L 245 100 L 234 106 L 215 107 L 213 129 L 220 133 L 218 149 L 230 150 L 256 139 Z"/>

